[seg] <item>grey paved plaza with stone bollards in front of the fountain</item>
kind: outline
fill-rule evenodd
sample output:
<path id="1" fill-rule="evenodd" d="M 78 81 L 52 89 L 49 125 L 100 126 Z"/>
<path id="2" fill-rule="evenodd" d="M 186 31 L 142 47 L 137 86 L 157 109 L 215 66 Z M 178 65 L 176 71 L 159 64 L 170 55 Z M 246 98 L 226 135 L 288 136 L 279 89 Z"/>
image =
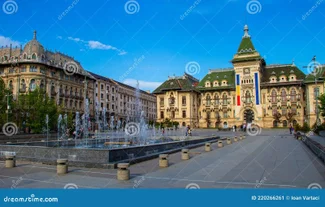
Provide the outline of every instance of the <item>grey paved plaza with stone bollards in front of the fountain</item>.
<path id="1" fill-rule="evenodd" d="M 235 132 L 195 130 L 194 135 L 233 137 Z M 288 130 L 263 129 L 257 136 L 205 152 L 190 150 L 191 158 L 181 160 L 180 152 L 170 154 L 168 168 L 159 168 L 158 158 L 131 165 L 131 179 L 118 181 L 116 169 L 70 167 L 64 176 L 56 167 L 17 162 L 4 168 L 1 188 L 307 188 L 325 187 L 325 166 L 303 142 Z"/>

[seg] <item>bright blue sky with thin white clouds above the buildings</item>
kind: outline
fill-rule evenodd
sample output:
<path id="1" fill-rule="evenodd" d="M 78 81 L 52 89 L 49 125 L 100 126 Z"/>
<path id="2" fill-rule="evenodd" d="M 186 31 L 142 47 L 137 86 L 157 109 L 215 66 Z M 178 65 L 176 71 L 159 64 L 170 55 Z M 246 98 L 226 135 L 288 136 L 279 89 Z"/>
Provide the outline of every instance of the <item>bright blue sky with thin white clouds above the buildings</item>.
<path id="1" fill-rule="evenodd" d="M 12 3 L 1 0 L 2 5 L 6 2 Z M 7 14 L 12 12 L 9 7 L 0 10 L 1 45 L 25 44 L 37 30 L 45 48 L 75 57 L 92 72 L 131 85 L 139 80 L 146 90 L 168 76 L 182 75 L 188 62 L 199 64 L 194 75 L 198 79 L 209 69 L 231 67 L 245 24 L 267 64 L 294 59 L 306 72 L 303 66 L 314 55 L 321 64 L 325 62 L 325 0 L 15 3 L 12 14 Z"/>

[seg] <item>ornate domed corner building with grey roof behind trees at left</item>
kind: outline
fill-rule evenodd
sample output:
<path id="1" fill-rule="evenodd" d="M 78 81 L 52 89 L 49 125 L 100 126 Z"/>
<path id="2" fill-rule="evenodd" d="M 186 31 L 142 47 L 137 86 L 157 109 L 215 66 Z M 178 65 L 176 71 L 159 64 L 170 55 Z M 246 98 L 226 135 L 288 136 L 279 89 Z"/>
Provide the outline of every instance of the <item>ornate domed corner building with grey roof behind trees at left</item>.
<path id="1" fill-rule="evenodd" d="M 73 67 L 71 74 L 64 71 L 69 65 Z M 86 97 L 93 115 L 95 78 L 72 57 L 45 50 L 37 41 L 36 31 L 24 48 L 0 48 L 0 77 L 15 99 L 39 87 L 67 112 L 83 111 Z"/>

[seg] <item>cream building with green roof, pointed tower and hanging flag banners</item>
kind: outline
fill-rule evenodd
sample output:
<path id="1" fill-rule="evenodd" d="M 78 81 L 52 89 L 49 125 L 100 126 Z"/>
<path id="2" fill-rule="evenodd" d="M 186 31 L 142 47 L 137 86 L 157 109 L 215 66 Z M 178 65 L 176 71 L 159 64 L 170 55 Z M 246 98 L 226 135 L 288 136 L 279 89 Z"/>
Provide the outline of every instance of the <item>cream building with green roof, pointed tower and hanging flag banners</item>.
<path id="1" fill-rule="evenodd" d="M 315 78 L 294 63 L 266 65 L 247 25 L 231 62 L 232 68 L 209 70 L 201 81 L 188 74 L 165 81 L 153 92 L 157 121 L 170 118 L 183 126 L 202 128 L 244 123 L 287 127 L 290 122 L 312 126 L 316 122 L 316 97 L 324 91 L 322 73 Z"/>

